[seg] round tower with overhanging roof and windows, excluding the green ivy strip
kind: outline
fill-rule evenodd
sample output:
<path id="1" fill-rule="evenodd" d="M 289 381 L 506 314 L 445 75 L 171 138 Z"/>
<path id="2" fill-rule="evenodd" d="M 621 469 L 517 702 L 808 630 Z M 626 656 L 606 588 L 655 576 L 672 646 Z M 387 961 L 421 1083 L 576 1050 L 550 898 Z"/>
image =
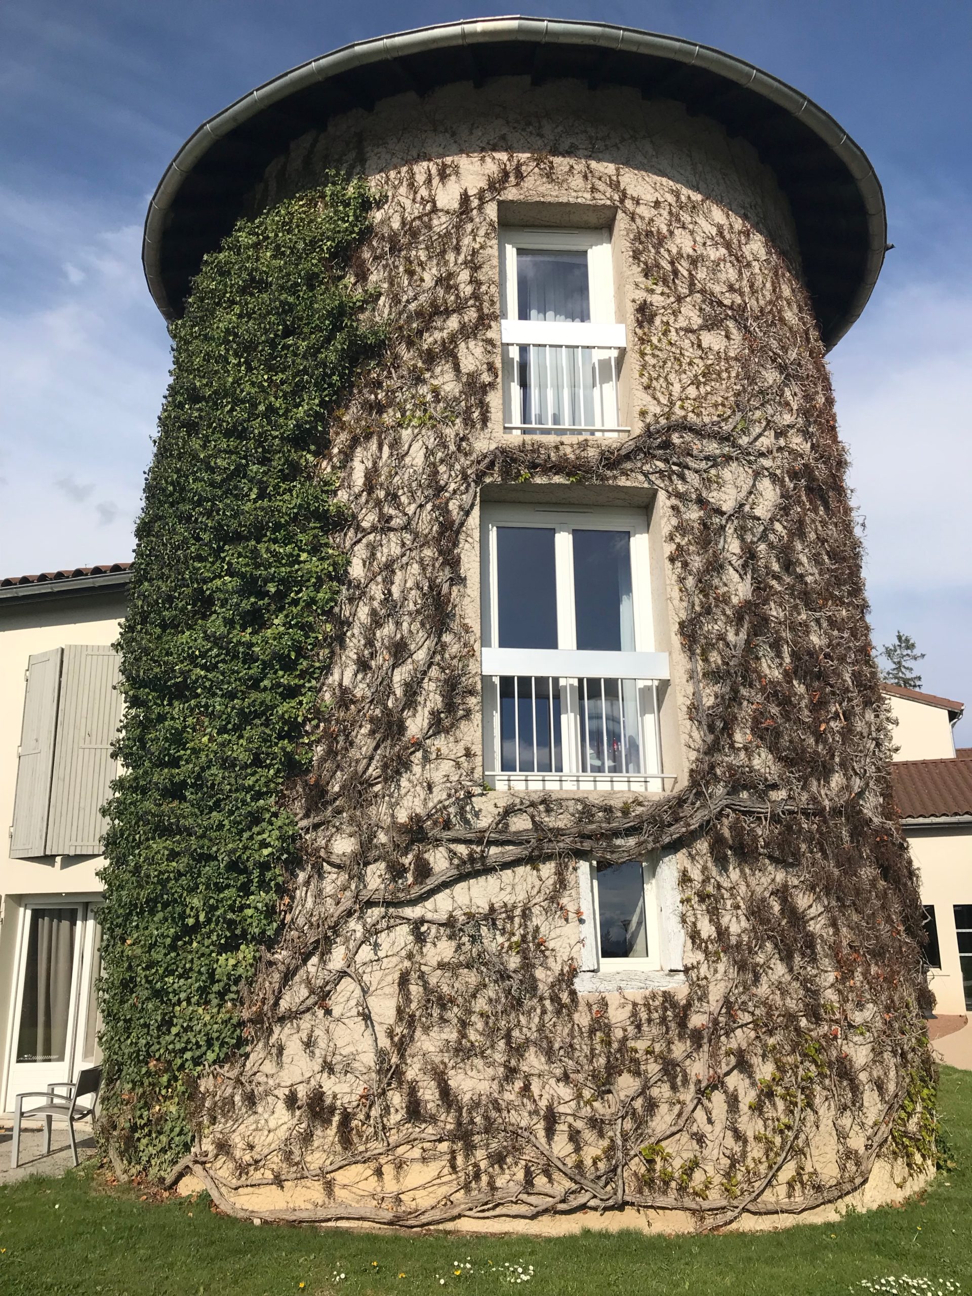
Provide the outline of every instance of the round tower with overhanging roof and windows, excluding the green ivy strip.
<path id="1" fill-rule="evenodd" d="M 677 38 L 363 41 L 166 171 L 176 364 L 214 258 L 354 185 L 375 336 L 306 463 L 340 592 L 187 1164 L 235 1212 L 406 1226 L 899 1196 L 933 1164 L 920 915 L 824 360 L 884 257 L 867 158 Z"/>

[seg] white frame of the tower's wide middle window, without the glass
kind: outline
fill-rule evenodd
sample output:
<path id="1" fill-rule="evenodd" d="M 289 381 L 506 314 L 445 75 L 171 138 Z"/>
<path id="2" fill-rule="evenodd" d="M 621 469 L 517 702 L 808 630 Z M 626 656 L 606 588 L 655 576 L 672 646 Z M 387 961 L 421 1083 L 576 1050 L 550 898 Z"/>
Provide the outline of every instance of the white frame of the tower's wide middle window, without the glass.
<path id="1" fill-rule="evenodd" d="M 557 594 L 557 648 L 500 648 L 496 533 L 500 526 L 553 530 L 555 579 Z M 574 609 L 574 530 L 627 531 L 631 535 L 631 610 L 634 652 L 594 652 L 577 649 Z M 481 509 L 482 553 L 482 674 L 483 680 L 483 772 L 498 788 L 537 788 L 543 791 L 652 791 L 662 792 L 665 774 L 658 714 L 658 682 L 669 678 L 667 653 L 654 651 L 651 596 L 651 553 L 648 516 L 642 509 L 614 507 L 570 507 L 566 504 L 483 504 Z M 561 688 L 561 750 L 564 771 L 502 771 L 499 752 L 499 700 L 491 696 L 498 677 L 552 675 L 568 683 Z M 575 683 L 584 678 L 625 678 L 639 680 L 642 709 L 643 774 L 581 772 L 579 728 L 575 723 L 578 700 Z M 651 713 L 643 689 L 651 691 Z M 566 705 L 564 705 L 566 704 Z M 645 769 L 649 766 L 649 769 Z"/>

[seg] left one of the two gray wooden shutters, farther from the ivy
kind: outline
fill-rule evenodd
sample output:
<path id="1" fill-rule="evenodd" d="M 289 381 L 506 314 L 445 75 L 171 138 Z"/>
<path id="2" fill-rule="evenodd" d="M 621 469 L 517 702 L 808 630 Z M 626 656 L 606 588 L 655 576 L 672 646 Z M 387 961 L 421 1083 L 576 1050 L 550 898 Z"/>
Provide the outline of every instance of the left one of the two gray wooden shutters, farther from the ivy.
<path id="1" fill-rule="evenodd" d="M 62 654 L 62 648 L 52 648 L 49 652 L 34 653 L 27 661 L 27 691 L 23 697 L 10 829 L 10 855 L 14 859 L 44 854 Z"/>

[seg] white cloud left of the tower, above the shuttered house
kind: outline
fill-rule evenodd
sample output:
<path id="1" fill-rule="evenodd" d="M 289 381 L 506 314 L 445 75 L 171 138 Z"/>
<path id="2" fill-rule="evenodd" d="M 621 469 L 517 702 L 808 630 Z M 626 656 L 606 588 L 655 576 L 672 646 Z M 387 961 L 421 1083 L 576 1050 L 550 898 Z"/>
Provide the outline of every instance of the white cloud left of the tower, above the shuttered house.
<path id="1" fill-rule="evenodd" d="M 0 303 L 0 574 L 127 559 L 168 362 L 141 229 L 3 189 L 0 211 L 36 281 Z"/>

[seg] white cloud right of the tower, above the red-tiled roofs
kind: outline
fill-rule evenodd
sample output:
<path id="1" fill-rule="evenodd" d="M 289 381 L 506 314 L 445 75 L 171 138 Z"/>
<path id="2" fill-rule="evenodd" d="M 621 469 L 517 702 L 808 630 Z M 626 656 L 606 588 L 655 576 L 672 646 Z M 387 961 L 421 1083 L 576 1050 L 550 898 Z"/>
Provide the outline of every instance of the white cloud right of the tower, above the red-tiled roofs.
<path id="1" fill-rule="evenodd" d="M 972 263 L 958 242 L 942 262 L 947 279 L 880 285 L 832 367 L 876 640 L 911 634 L 923 687 L 972 706 Z"/>

